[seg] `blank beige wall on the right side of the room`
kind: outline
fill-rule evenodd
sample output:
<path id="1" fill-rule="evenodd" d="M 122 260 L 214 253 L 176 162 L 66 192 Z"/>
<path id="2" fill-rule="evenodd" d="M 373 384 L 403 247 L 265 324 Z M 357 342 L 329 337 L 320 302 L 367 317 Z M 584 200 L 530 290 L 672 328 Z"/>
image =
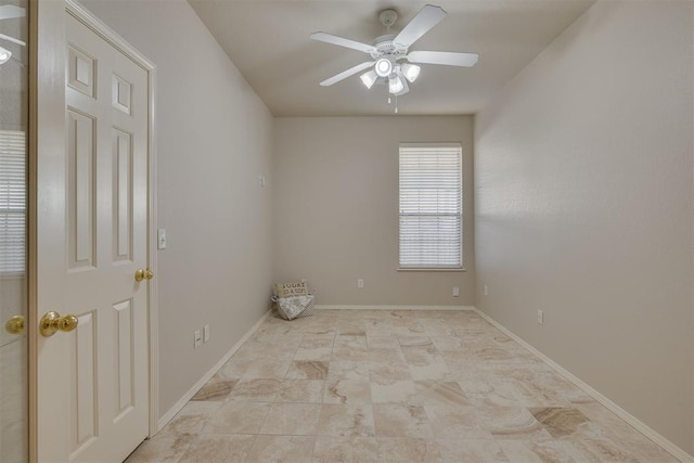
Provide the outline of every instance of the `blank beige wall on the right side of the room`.
<path id="1" fill-rule="evenodd" d="M 475 128 L 478 307 L 690 453 L 692 17 L 600 1 Z"/>

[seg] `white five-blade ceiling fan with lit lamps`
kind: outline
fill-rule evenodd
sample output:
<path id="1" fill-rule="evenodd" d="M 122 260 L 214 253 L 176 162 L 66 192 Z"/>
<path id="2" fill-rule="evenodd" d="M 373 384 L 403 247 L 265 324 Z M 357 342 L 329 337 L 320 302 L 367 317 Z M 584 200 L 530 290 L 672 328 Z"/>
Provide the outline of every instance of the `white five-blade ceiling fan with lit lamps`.
<path id="1" fill-rule="evenodd" d="M 369 53 L 372 61 L 365 61 L 347 70 L 330 77 L 321 86 L 327 87 L 337 83 L 357 73 L 372 69 L 360 76 L 367 88 L 374 83 L 388 82 L 388 92 L 394 95 L 402 95 L 410 91 L 408 81 L 414 82 L 420 75 L 417 64 L 442 64 L 447 66 L 471 67 L 477 63 L 477 53 L 459 53 L 451 51 L 409 51 L 410 47 L 424 34 L 436 26 L 444 17 L 446 11 L 432 4 L 424 5 L 422 10 L 397 35 L 390 34 L 390 26 L 398 20 L 395 10 L 384 10 L 378 15 L 381 24 L 386 27 L 386 35 L 376 38 L 373 44 L 361 43 L 325 33 L 313 33 L 311 39 L 352 50 Z"/>

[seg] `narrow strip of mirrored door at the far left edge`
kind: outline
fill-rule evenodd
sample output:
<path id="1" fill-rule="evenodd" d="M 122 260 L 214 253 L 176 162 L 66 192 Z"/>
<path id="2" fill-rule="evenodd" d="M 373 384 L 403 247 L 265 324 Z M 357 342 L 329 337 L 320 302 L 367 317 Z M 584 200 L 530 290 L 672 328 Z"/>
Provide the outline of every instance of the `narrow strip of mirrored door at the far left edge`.
<path id="1" fill-rule="evenodd" d="M 0 0 L 0 461 L 28 461 L 28 0 Z"/>

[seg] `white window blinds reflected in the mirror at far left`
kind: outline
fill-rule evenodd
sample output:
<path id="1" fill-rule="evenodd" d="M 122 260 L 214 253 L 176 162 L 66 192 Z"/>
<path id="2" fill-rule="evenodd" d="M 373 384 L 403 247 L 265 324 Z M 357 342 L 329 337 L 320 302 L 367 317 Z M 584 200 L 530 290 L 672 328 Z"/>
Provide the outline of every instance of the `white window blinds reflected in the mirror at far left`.
<path id="1" fill-rule="evenodd" d="M 0 130 L 0 274 L 24 273 L 26 261 L 26 137 Z"/>

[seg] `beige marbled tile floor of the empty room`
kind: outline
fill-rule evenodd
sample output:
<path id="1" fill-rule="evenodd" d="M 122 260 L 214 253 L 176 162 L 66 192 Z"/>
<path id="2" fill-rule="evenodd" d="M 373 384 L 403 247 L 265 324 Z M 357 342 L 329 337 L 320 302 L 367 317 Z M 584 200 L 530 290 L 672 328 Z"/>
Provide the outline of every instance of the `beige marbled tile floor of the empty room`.
<path id="1" fill-rule="evenodd" d="M 473 311 L 268 318 L 136 462 L 674 462 Z"/>

